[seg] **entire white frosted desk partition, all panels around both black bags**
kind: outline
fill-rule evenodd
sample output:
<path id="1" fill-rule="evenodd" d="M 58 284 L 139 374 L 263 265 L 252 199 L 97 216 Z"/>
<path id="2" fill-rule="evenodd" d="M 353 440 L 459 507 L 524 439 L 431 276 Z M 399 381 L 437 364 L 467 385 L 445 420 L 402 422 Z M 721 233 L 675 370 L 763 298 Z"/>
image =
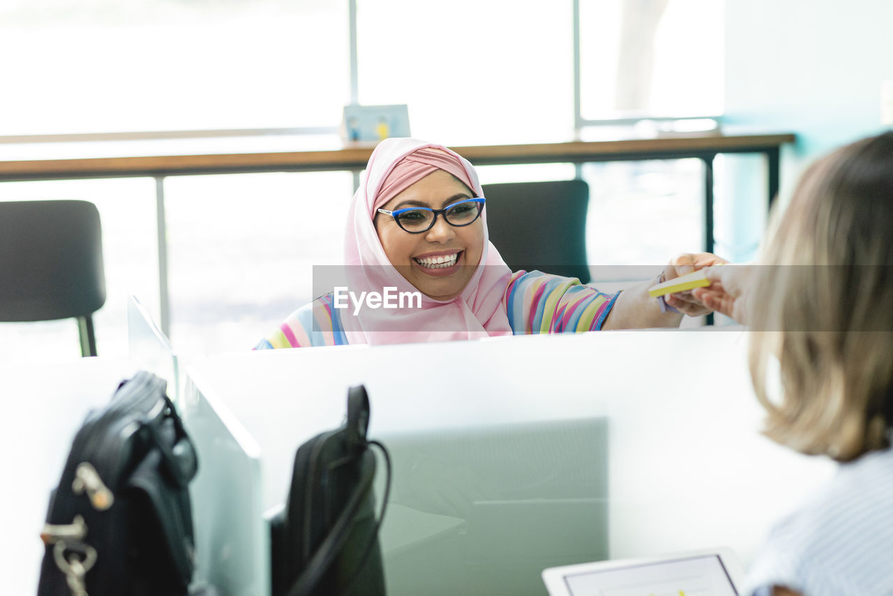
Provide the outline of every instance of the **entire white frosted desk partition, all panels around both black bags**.
<path id="1" fill-rule="evenodd" d="M 391 596 L 541 595 L 533 570 L 717 545 L 747 565 L 834 469 L 758 434 L 743 332 L 246 351 L 187 378 L 140 316 L 154 348 L 133 360 L 0 366 L 10 593 L 36 591 L 48 491 L 83 417 L 153 361 L 196 441 L 196 578 L 221 596 L 269 593 L 263 511 L 285 498 L 298 445 L 341 424 L 361 382 L 370 436 L 395 460 L 381 534 Z"/>

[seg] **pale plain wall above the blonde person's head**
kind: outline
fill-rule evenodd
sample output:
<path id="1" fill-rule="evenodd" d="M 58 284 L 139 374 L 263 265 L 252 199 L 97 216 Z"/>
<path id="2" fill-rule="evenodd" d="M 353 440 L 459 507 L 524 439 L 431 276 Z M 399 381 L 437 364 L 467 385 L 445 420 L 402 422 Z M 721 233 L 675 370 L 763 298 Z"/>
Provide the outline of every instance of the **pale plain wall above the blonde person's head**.
<path id="1" fill-rule="evenodd" d="M 884 128 L 893 2 L 726 2 L 725 122 L 797 133 L 784 153 L 783 190 L 818 155 Z"/>

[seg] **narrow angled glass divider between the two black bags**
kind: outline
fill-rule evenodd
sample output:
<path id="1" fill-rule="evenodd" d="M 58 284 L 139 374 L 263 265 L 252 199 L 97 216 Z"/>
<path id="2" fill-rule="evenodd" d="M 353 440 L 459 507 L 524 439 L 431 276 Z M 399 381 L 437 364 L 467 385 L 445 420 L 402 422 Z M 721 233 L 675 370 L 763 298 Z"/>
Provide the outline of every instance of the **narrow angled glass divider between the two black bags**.
<path id="1" fill-rule="evenodd" d="M 267 596 L 270 537 L 261 508 L 260 448 L 213 390 L 180 374 L 171 341 L 132 296 L 128 335 L 130 360 L 167 379 L 168 395 L 196 444 L 198 474 L 189 486 L 196 582 L 211 583 L 221 596 Z"/>

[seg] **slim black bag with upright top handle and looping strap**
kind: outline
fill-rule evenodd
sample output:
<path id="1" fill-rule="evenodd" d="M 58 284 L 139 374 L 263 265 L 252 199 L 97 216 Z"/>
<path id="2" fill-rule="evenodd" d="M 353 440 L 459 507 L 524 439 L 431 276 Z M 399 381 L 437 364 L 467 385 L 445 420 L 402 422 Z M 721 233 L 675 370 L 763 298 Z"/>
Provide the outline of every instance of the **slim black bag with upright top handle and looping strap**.
<path id="1" fill-rule="evenodd" d="M 369 398 L 363 386 L 347 395 L 347 420 L 297 449 L 284 510 L 271 520 L 273 596 L 384 596 L 379 545 L 390 489 L 390 458 L 366 439 Z M 375 517 L 375 455 L 387 467 Z"/>

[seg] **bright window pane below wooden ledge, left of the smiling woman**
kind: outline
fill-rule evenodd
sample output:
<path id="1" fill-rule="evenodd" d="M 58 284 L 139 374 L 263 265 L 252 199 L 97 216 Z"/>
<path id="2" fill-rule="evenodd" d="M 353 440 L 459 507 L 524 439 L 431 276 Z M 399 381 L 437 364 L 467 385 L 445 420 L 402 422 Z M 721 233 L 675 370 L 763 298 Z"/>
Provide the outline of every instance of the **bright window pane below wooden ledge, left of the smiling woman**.
<path id="1" fill-rule="evenodd" d="M 348 172 L 165 180 L 171 342 L 250 349 L 313 298 L 313 265 L 339 264 Z"/>

